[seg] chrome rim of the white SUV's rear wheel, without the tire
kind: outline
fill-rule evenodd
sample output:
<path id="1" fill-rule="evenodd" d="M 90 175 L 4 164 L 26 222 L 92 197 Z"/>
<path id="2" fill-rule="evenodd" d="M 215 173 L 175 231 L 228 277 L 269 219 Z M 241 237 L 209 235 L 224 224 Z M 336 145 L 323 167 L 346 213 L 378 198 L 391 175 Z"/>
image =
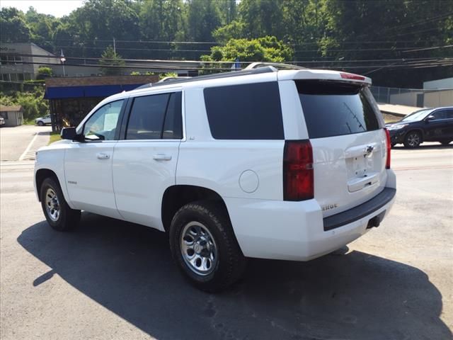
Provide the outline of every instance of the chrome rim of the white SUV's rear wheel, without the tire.
<path id="1" fill-rule="evenodd" d="M 180 239 L 181 255 L 194 273 L 206 276 L 217 266 L 217 244 L 210 231 L 200 222 L 189 222 Z"/>

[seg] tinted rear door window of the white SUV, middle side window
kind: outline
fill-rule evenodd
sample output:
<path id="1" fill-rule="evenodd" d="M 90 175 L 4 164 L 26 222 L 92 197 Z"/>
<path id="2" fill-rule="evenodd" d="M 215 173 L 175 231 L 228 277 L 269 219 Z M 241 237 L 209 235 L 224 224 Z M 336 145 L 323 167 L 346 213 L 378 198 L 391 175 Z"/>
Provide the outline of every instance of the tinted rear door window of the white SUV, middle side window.
<path id="1" fill-rule="evenodd" d="M 134 98 L 127 123 L 127 140 L 181 139 L 181 93 Z"/>

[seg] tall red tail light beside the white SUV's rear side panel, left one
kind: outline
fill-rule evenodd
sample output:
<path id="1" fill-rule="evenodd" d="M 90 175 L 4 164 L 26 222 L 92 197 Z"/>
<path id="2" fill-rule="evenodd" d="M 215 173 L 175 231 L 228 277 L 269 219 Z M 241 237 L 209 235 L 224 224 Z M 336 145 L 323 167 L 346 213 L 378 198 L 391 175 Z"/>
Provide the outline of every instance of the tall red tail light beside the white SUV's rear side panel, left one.
<path id="1" fill-rule="evenodd" d="M 314 198 L 313 150 L 309 140 L 287 140 L 283 153 L 283 199 Z"/>

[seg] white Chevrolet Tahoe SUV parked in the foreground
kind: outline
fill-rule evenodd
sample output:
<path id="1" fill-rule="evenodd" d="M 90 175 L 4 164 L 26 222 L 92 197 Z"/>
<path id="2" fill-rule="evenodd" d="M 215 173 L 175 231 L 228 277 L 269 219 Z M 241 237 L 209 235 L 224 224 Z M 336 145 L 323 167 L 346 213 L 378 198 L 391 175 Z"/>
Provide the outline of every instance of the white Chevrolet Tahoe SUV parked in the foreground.
<path id="1" fill-rule="evenodd" d="M 179 268 L 207 291 L 238 280 L 246 257 L 328 254 L 394 203 L 370 83 L 261 67 L 110 96 L 39 150 L 42 210 L 57 230 L 86 210 L 168 232 Z"/>

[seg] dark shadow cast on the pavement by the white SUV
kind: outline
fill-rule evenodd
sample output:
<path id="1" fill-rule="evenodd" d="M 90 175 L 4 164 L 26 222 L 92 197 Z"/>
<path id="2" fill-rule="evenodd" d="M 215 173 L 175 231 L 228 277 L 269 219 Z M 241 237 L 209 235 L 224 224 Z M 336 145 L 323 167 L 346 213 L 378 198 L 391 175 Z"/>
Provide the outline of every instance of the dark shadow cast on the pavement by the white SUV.
<path id="1" fill-rule="evenodd" d="M 425 273 L 359 251 L 307 263 L 251 259 L 241 283 L 210 295 L 180 276 L 166 235 L 147 227 L 84 213 L 74 232 L 43 221 L 18 242 L 52 268 L 33 285 L 56 273 L 157 339 L 452 336 L 439 318 L 442 295 Z"/>

